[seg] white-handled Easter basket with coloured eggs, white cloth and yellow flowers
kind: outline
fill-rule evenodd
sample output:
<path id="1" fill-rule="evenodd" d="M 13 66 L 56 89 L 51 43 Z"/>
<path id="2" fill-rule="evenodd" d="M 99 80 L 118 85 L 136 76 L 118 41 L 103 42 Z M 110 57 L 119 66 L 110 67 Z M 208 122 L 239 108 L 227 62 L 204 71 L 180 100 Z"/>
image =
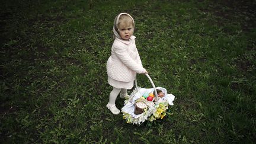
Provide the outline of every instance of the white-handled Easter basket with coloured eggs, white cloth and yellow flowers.
<path id="1" fill-rule="evenodd" d="M 153 88 L 137 87 L 137 80 L 135 78 L 135 89 L 130 97 L 124 101 L 124 107 L 121 108 L 123 119 L 127 123 L 142 124 L 144 121 L 153 121 L 156 119 L 163 119 L 167 112 L 168 106 L 173 105 L 175 96 L 167 94 L 167 89 L 162 87 L 155 87 L 152 79 L 148 74 Z"/>

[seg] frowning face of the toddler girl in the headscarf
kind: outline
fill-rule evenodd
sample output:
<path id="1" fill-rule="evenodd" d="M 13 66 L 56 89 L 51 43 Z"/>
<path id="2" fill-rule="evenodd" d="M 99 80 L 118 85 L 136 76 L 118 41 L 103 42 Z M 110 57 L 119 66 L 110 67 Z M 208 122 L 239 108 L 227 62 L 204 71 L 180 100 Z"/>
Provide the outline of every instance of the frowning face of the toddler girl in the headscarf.
<path id="1" fill-rule="evenodd" d="M 121 39 L 129 40 L 133 34 L 133 25 L 129 23 L 121 22 L 119 24 L 119 34 Z"/>

